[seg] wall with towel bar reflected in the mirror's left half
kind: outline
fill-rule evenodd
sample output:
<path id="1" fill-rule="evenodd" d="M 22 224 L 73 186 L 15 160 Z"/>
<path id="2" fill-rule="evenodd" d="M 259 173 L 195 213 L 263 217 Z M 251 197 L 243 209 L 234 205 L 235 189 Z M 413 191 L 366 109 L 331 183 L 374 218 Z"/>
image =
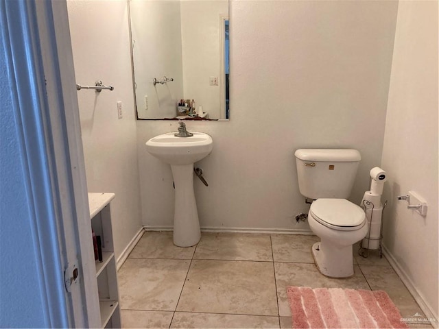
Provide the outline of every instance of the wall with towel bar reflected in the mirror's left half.
<path id="1" fill-rule="evenodd" d="M 173 118 L 177 99 L 183 98 L 180 1 L 133 0 L 130 13 L 139 118 Z M 174 81 L 153 86 L 154 77 L 163 76 Z"/>

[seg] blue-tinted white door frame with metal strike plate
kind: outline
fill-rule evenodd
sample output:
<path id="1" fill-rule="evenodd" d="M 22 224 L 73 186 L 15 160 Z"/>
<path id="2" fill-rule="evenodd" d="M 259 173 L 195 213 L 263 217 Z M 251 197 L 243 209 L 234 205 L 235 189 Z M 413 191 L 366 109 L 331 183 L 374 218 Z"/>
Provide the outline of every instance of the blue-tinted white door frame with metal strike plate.
<path id="1" fill-rule="evenodd" d="M 42 317 L 49 327 L 96 328 L 99 301 L 67 4 L 1 1 L 0 14 L 42 272 L 36 282 Z"/>

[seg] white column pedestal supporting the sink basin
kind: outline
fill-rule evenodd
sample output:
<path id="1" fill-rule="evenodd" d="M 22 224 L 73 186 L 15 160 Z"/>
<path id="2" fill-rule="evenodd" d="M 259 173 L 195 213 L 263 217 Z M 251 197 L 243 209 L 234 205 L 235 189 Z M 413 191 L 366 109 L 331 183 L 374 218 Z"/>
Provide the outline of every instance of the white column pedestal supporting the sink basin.
<path id="1" fill-rule="evenodd" d="M 191 247 L 201 238 L 197 204 L 193 193 L 193 163 L 171 164 L 175 184 L 174 245 Z"/>

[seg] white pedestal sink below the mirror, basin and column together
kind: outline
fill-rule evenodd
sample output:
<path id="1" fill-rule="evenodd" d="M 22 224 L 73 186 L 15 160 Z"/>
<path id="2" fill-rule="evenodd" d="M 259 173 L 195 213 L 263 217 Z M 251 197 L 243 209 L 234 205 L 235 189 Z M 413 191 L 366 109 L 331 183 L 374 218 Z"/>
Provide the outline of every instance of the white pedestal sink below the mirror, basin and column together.
<path id="1" fill-rule="evenodd" d="M 193 164 L 211 153 L 213 141 L 203 132 L 190 137 L 161 134 L 146 142 L 146 149 L 156 158 L 171 164 L 175 184 L 174 245 L 190 247 L 200 241 L 200 221 L 193 193 Z"/>

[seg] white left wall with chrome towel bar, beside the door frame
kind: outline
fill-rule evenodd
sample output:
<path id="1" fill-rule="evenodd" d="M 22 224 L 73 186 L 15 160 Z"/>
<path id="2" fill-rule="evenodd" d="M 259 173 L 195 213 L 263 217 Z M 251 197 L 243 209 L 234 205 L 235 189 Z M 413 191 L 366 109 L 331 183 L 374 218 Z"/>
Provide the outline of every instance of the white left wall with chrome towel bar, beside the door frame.
<path id="1" fill-rule="evenodd" d="M 141 229 L 136 120 L 126 1 L 67 1 L 76 82 L 102 80 L 115 90 L 79 90 L 89 192 L 113 192 L 115 254 Z M 123 119 L 117 118 L 117 101 Z"/>

